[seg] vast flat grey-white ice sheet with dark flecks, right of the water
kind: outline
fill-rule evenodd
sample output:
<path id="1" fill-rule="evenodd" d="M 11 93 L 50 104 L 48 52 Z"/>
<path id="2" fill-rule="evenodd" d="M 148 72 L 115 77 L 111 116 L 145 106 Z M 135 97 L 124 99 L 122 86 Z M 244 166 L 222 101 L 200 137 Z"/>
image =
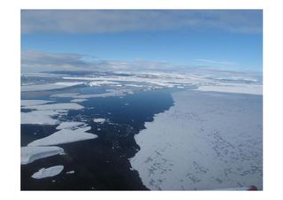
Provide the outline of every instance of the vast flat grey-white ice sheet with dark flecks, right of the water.
<path id="1" fill-rule="evenodd" d="M 130 159 L 157 189 L 263 187 L 262 96 L 183 91 L 135 135 Z"/>

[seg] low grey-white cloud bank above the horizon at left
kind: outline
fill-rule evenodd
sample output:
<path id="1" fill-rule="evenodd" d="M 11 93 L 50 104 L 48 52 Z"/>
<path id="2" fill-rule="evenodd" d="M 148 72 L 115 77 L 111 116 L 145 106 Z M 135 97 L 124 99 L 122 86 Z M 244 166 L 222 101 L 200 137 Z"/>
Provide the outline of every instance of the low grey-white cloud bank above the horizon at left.
<path id="1" fill-rule="evenodd" d="M 117 71 L 117 70 L 173 70 L 177 65 L 166 62 L 133 60 L 100 60 L 83 54 L 48 53 L 38 50 L 21 52 L 22 73 L 48 71 Z M 177 67 L 178 68 L 178 67 Z M 180 68 L 180 66 L 179 66 Z"/>

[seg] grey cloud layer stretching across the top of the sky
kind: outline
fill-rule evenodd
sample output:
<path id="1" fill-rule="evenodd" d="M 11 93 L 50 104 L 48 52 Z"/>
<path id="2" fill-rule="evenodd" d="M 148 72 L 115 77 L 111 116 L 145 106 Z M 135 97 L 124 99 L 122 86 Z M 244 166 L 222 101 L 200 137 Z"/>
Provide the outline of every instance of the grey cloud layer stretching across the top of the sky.
<path id="1" fill-rule="evenodd" d="M 261 10 L 22 10 L 21 32 L 117 33 L 173 28 L 218 28 L 261 33 Z"/>

